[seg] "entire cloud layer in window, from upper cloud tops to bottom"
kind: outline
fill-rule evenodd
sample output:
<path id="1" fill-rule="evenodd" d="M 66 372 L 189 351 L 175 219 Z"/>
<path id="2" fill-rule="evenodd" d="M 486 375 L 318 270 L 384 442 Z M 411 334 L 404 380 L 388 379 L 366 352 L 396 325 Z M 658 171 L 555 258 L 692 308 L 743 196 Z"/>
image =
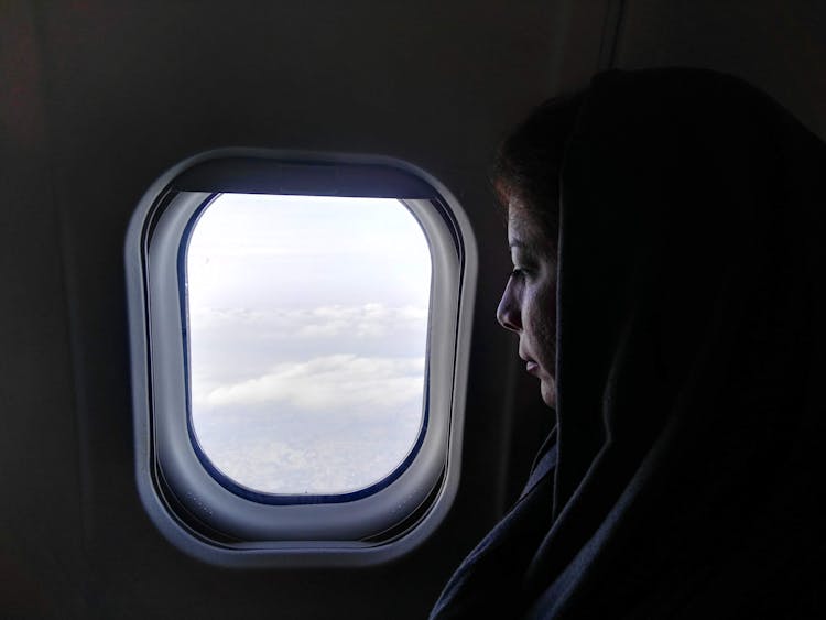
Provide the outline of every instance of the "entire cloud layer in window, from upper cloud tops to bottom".
<path id="1" fill-rule="evenodd" d="M 422 424 L 427 309 L 194 308 L 193 424 L 249 488 L 341 493 L 389 475 Z"/>

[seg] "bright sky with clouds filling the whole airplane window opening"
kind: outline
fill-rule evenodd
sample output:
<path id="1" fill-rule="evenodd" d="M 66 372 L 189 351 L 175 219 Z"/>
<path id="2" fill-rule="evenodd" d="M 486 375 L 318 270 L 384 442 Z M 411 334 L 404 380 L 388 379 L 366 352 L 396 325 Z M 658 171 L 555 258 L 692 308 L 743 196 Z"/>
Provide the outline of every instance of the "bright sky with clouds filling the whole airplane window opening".
<path id="1" fill-rule="evenodd" d="M 186 254 L 192 420 L 263 492 L 390 474 L 422 424 L 431 254 L 398 200 L 224 194 Z"/>

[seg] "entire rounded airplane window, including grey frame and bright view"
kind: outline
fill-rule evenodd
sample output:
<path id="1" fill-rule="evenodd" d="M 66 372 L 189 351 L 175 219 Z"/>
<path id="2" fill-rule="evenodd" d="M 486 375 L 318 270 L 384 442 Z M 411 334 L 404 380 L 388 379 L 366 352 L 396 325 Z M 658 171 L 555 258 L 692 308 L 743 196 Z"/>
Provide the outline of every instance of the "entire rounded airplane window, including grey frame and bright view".
<path id="1" fill-rule="evenodd" d="M 141 501 L 224 566 L 385 562 L 458 489 L 478 258 L 389 157 L 225 149 L 146 192 L 124 248 Z"/>

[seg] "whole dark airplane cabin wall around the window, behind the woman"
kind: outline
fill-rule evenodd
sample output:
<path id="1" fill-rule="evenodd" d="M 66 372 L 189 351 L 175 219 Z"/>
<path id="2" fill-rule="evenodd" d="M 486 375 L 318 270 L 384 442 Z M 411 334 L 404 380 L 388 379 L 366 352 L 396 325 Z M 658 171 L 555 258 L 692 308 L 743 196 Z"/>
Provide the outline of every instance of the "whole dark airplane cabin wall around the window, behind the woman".
<path id="1" fill-rule="evenodd" d="M 422 618 L 512 500 L 547 414 L 493 314 L 509 271 L 485 170 L 599 68 L 741 75 L 826 135 L 826 6 L 655 0 L 0 4 L 0 616 Z M 480 279 L 463 479 L 438 533 L 372 568 L 183 555 L 133 474 L 122 248 L 174 163 L 219 146 L 391 155 L 467 210 Z"/>

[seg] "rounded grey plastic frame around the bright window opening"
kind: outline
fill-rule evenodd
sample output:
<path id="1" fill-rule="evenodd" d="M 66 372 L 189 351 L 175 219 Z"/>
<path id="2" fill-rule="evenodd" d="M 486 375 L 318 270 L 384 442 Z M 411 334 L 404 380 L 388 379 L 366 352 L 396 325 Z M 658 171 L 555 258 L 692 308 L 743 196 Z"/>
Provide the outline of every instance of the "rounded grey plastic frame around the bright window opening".
<path id="1" fill-rule="evenodd" d="M 189 428 L 182 248 L 198 213 L 227 192 L 396 198 L 419 220 L 433 267 L 427 425 L 406 469 L 345 496 L 262 498 L 239 492 L 205 466 Z M 467 218 L 441 183 L 390 157 L 210 151 L 146 192 L 124 252 L 137 481 L 169 540 L 220 565 L 329 565 L 387 561 L 430 535 L 458 486 L 477 267 Z"/>

